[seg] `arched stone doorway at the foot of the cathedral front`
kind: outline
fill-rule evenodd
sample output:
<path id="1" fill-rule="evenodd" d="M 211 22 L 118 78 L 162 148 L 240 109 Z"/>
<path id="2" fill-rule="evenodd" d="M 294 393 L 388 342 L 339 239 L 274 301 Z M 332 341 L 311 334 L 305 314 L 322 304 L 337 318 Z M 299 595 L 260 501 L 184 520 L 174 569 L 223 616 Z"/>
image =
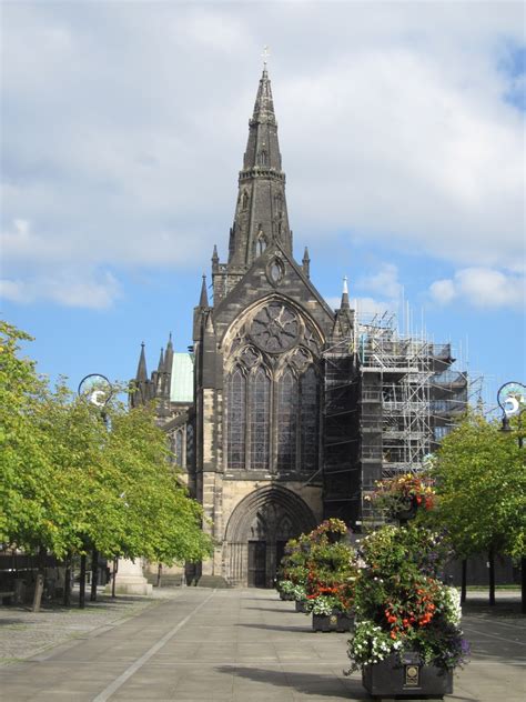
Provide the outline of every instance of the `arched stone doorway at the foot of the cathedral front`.
<path id="1" fill-rule="evenodd" d="M 286 541 L 315 525 L 308 505 L 290 490 L 255 490 L 235 508 L 226 526 L 226 580 L 232 585 L 272 588 Z"/>

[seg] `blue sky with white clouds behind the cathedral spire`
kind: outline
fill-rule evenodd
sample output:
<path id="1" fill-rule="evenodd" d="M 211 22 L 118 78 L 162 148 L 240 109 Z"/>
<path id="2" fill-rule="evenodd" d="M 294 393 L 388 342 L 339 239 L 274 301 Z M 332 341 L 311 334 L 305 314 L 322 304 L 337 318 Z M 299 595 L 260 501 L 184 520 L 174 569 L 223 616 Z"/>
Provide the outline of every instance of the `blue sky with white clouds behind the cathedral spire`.
<path id="1" fill-rule="evenodd" d="M 0 317 L 38 370 L 149 371 L 226 259 L 269 72 L 295 258 L 526 382 L 522 2 L 3 1 Z M 411 320 L 404 313 L 408 303 Z"/>

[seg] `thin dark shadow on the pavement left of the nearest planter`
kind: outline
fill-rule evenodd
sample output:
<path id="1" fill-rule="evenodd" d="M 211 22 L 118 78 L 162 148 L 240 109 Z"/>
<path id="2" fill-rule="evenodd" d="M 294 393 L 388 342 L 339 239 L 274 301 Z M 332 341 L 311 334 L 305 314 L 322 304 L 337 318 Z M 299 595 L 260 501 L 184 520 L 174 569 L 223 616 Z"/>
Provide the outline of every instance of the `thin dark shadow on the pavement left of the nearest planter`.
<path id="1" fill-rule="evenodd" d="M 318 698 L 340 696 L 347 700 L 371 700 L 371 696 L 362 686 L 362 681 L 356 679 L 341 679 L 335 675 L 316 675 L 314 673 L 284 673 L 277 670 L 263 670 L 261 668 L 236 668 L 235 665 L 222 665 L 216 668 L 221 673 L 236 675 L 244 680 L 251 680 L 262 684 L 271 684 L 277 688 L 293 688 L 302 694 L 312 694 Z"/>

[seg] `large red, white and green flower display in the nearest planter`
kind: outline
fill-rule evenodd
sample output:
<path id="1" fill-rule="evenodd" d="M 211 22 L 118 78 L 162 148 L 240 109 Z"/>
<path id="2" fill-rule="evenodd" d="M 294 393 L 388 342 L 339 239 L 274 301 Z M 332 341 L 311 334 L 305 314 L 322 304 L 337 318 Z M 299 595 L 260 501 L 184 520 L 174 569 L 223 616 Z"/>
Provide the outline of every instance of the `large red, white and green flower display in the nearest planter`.
<path id="1" fill-rule="evenodd" d="M 393 651 L 416 651 L 424 663 L 444 669 L 466 662 L 458 595 L 438 580 L 447 554 L 443 536 L 414 524 L 386 525 L 362 541 L 350 672 Z"/>

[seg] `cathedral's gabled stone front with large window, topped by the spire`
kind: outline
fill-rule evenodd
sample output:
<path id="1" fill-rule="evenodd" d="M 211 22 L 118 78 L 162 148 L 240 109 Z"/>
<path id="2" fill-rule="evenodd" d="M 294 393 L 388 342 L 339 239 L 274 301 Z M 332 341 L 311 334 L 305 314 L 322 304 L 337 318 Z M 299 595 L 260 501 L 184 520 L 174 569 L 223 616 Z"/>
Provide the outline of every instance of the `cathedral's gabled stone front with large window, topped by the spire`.
<path id="1" fill-rule="evenodd" d="M 195 495 L 221 544 L 203 575 L 270 585 L 323 515 L 322 352 L 334 313 L 293 258 L 271 81 L 260 80 L 229 255 L 194 310 Z"/>

